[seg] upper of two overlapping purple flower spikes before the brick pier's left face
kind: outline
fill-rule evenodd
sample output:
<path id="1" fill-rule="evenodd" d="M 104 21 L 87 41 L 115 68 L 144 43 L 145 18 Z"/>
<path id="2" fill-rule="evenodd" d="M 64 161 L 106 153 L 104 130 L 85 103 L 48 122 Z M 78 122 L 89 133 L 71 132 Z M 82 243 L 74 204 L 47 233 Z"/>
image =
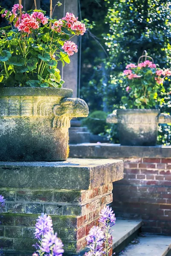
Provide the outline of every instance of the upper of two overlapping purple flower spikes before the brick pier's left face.
<path id="1" fill-rule="evenodd" d="M 52 218 L 46 214 L 41 214 L 36 222 L 35 238 L 41 240 L 41 237 L 52 231 Z"/>

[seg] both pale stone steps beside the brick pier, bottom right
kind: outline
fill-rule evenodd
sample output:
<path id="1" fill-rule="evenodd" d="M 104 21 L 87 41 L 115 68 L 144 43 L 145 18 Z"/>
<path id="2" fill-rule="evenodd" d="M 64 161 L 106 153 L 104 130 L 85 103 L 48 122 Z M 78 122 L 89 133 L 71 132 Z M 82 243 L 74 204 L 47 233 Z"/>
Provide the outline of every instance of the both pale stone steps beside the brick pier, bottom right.
<path id="1" fill-rule="evenodd" d="M 141 233 L 142 221 L 117 219 L 112 227 L 117 256 L 171 256 L 171 236 Z"/>

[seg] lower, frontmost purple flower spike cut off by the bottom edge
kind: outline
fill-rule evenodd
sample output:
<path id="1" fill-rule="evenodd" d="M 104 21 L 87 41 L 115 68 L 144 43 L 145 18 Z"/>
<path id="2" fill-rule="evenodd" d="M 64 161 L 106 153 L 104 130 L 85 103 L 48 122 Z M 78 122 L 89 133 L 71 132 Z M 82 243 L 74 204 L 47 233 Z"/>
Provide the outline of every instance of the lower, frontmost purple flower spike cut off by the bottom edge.
<path id="1" fill-rule="evenodd" d="M 52 256 L 62 256 L 62 253 L 64 253 L 63 246 L 64 244 L 61 239 L 57 237 L 57 233 L 54 234 L 52 231 L 44 235 L 41 250 Z"/>

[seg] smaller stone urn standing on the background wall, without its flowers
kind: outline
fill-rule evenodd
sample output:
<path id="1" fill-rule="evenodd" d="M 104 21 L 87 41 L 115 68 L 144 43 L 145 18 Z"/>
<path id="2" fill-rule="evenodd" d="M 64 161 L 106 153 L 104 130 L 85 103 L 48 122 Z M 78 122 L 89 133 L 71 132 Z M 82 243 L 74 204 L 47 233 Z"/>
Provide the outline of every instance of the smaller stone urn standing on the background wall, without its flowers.
<path id="1" fill-rule="evenodd" d="M 118 109 L 106 121 L 118 123 L 121 145 L 156 145 L 158 124 L 171 123 L 171 116 L 156 109 Z"/>

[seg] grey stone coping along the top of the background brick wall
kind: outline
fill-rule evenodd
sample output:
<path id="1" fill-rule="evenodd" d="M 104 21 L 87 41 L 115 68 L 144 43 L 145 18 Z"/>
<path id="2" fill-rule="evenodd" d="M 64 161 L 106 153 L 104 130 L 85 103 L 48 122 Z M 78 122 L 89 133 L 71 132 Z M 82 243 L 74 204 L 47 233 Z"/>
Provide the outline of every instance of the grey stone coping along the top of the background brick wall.
<path id="1" fill-rule="evenodd" d="M 127 157 L 171 157 L 171 146 L 123 146 L 112 143 L 83 143 L 70 145 L 70 157 L 79 158 L 127 158 Z"/>

